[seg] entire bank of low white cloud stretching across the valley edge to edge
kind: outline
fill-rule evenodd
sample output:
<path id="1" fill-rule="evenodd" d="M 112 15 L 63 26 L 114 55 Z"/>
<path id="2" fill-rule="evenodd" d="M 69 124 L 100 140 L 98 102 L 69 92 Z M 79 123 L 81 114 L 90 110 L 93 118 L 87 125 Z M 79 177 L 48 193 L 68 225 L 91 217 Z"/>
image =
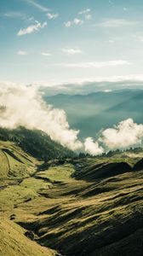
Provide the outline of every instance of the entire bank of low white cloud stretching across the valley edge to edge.
<path id="1" fill-rule="evenodd" d="M 96 139 L 81 142 L 79 131 L 70 128 L 66 113 L 43 101 L 43 95 L 33 86 L 0 83 L 0 125 L 14 129 L 20 125 L 45 131 L 54 141 L 72 150 L 97 155 L 114 149 L 141 146 L 143 125 L 126 119 L 113 128 L 100 131 Z"/>

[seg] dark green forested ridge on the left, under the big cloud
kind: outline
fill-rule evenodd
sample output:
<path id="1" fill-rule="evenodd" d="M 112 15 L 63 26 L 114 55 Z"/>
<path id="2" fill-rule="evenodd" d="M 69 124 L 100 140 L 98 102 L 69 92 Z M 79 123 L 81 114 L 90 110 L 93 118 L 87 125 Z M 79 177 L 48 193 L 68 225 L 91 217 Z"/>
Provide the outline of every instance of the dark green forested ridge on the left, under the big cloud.
<path id="1" fill-rule="evenodd" d="M 45 132 L 28 130 L 21 126 L 14 130 L 0 128 L 0 140 L 16 143 L 37 160 L 50 160 L 74 155 L 68 148 L 64 148 L 60 143 L 51 140 Z"/>

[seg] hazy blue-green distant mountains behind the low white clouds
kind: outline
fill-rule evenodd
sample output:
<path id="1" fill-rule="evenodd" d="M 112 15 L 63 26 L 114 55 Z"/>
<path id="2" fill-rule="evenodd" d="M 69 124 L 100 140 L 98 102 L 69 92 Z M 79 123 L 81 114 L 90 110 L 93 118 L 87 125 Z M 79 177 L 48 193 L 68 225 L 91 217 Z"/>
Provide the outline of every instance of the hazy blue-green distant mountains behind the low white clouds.
<path id="1" fill-rule="evenodd" d="M 81 131 L 81 137 L 95 137 L 100 129 L 112 127 L 123 119 L 143 121 L 143 90 L 99 91 L 75 96 L 45 94 L 44 99 L 66 111 L 69 124 Z"/>

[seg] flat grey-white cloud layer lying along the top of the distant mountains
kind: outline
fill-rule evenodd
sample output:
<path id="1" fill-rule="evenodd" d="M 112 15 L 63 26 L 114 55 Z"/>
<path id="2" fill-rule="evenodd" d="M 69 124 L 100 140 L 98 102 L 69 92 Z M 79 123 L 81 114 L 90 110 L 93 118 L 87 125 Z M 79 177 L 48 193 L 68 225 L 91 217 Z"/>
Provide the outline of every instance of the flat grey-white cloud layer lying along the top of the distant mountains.
<path id="1" fill-rule="evenodd" d="M 27 86 L 32 86 L 29 84 Z M 141 77 L 134 78 L 114 78 L 114 79 L 96 79 L 95 81 L 84 81 L 81 83 L 67 83 L 55 84 L 52 86 L 40 85 L 40 90 L 44 91 L 49 96 L 57 94 L 68 95 L 87 95 L 99 91 L 112 91 L 112 90 L 143 90 L 143 81 Z"/>

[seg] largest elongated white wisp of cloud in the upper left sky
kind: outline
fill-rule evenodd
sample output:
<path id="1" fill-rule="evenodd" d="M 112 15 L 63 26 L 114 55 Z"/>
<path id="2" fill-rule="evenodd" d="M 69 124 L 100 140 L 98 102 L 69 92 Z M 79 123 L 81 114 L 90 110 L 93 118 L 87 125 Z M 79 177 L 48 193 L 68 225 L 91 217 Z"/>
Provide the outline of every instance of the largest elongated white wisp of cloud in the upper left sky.
<path id="1" fill-rule="evenodd" d="M 24 36 L 26 34 L 31 34 L 32 32 L 36 32 L 39 31 L 41 29 L 43 29 L 45 26 L 47 26 L 47 22 L 43 22 L 43 24 L 41 24 L 38 21 L 35 21 L 36 24 L 31 25 L 31 26 L 27 26 L 24 29 L 20 29 L 20 31 L 17 33 L 18 36 Z"/>

